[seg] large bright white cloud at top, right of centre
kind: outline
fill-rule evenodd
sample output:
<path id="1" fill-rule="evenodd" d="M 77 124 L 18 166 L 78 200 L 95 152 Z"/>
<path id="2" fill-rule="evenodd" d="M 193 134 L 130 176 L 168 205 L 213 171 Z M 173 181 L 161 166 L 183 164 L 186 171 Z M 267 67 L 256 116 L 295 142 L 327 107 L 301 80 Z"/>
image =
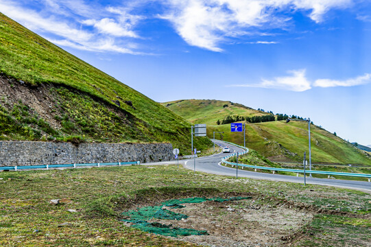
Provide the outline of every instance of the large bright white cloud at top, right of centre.
<path id="1" fill-rule="evenodd" d="M 278 17 L 285 10 L 310 10 L 309 17 L 320 23 L 333 8 L 346 8 L 352 0 L 167 0 L 171 21 L 189 45 L 222 51 L 219 43 L 249 27 L 264 30 L 284 27 L 290 18 Z"/>

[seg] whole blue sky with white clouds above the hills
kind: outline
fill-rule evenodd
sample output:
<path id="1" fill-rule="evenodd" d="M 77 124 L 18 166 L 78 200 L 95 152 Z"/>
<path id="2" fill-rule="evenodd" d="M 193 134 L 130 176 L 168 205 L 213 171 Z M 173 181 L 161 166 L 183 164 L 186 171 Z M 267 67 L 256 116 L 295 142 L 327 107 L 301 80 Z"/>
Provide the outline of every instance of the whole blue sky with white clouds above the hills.
<path id="1" fill-rule="evenodd" d="M 371 145 L 370 0 L 0 0 L 0 12 L 156 102 L 228 100 Z"/>

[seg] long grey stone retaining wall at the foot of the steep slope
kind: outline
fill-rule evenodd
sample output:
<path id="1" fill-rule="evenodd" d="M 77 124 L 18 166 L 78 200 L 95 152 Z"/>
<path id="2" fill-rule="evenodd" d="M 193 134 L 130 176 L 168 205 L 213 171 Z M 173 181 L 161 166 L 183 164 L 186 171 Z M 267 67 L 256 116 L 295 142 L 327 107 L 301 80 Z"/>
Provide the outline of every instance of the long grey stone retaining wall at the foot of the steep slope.
<path id="1" fill-rule="evenodd" d="M 0 141 L 0 166 L 108 163 L 173 159 L 170 143 L 53 143 Z"/>

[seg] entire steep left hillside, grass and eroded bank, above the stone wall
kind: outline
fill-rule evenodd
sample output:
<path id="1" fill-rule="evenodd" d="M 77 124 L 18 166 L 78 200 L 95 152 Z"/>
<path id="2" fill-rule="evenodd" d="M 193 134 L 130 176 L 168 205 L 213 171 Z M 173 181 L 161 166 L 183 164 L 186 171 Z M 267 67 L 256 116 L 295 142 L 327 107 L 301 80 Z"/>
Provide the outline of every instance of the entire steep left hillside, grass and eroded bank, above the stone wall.
<path id="1" fill-rule="evenodd" d="M 171 142 L 190 152 L 185 119 L 1 13 L 0 72 L 0 140 Z"/>

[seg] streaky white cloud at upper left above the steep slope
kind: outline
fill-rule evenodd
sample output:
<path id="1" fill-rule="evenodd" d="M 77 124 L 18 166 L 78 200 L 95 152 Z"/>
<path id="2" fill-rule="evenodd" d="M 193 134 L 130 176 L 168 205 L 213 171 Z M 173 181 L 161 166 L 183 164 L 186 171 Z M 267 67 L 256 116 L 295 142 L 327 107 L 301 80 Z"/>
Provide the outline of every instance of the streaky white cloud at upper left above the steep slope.
<path id="1" fill-rule="evenodd" d="M 73 5 L 73 2 L 69 0 L 45 0 L 45 3 L 51 7 L 48 9 L 51 10 L 51 13 L 60 12 L 62 15 L 64 15 L 62 10 L 66 8 L 66 6 L 62 6 L 61 3 L 68 3 L 68 5 L 71 6 Z M 77 6 L 81 7 L 79 10 L 80 13 L 86 14 L 87 16 L 90 7 L 84 5 L 82 1 L 76 1 L 76 4 Z M 133 50 L 133 48 L 136 47 L 136 45 L 133 43 L 123 42 L 123 40 L 121 40 L 119 42 L 121 45 L 118 45 L 117 42 L 115 42 L 115 37 L 137 37 L 134 32 L 125 29 L 125 27 L 131 28 L 132 25 L 134 25 L 130 23 L 130 21 L 127 23 L 127 25 L 125 23 L 120 25 L 113 19 L 101 19 L 100 21 L 91 19 L 79 21 L 79 19 L 82 18 L 81 16 L 74 16 L 74 21 L 67 21 L 68 19 L 64 19 L 60 15 L 58 16 L 57 14 L 51 14 L 50 12 L 36 12 L 34 10 L 23 8 L 14 1 L 6 0 L 0 0 L 0 10 L 3 12 L 3 14 L 6 14 L 22 25 L 25 25 L 25 27 L 27 27 L 29 30 L 38 33 L 41 32 L 49 37 L 51 35 L 58 37 L 49 38 L 49 40 L 56 45 L 86 51 L 111 51 L 123 54 L 143 54 Z M 71 12 L 69 12 L 69 14 L 71 14 Z M 67 14 L 64 16 L 66 15 Z M 133 20 L 136 19 L 133 18 Z M 77 27 L 78 23 L 84 22 L 89 25 L 94 25 L 99 32 L 91 32 L 84 30 L 81 27 Z M 108 35 L 102 36 L 101 33 Z"/>

